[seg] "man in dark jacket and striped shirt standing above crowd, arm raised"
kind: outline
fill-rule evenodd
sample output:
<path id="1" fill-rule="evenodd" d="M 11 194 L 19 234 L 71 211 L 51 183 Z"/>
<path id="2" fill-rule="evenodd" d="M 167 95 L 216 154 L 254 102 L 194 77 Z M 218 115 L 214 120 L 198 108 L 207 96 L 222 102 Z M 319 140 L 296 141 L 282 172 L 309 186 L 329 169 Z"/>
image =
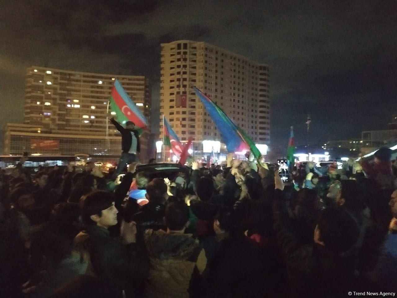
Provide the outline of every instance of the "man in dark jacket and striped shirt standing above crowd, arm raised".
<path id="1" fill-rule="evenodd" d="M 117 165 L 117 170 L 114 172 L 114 178 L 116 178 L 127 163 L 133 163 L 137 161 L 137 153 L 141 151 L 141 146 L 139 143 L 139 134 L 135 130 L 135 123 L 132 121 L 127 121 L 125 123 L 125 128 L 121 126 L 114 118 L 110 121 L 116 126 L 117 130 L 121 133 L 121 157 Z"/>

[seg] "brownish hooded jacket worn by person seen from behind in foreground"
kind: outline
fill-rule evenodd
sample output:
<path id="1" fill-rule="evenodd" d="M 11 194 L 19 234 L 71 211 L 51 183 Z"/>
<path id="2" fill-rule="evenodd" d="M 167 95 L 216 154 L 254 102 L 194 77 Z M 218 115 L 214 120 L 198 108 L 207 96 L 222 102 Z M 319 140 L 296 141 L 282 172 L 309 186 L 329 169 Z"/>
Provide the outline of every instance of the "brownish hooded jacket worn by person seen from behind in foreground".
<path id="1" fill-rule="evenodd" d="M 151 269 L 146 297 L 189 297 L 191 281 L 202 274 L 207 259 L 191 234 L 146 230 L 144 236 Z M 194 283 L 194 282 L 193 282 Z"/>

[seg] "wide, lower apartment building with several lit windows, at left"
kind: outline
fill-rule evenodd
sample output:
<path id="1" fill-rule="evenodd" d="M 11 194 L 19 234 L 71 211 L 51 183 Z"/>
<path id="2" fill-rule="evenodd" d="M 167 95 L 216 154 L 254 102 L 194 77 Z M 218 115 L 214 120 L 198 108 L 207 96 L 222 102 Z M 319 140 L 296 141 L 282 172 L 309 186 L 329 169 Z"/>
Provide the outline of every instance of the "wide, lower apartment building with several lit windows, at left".
<path id="1" fill-rule="evenodd" d="M 121 137 L 107 120 L 115 114 L 108 110 L 108 98 L 116 78 L 150 122 L 151 87 L 144 76 L 29 67 L 26 72 L 23 130 L 30 135 L 21 137 L 23 131 L 20 125 L 6 126 L 5 153 L 32 152 L 38 148 L 32 144 L 40 143 L 40 140 L 56 140 L 58 147 L 53 145 L 53 148 L 37 151 L 45 154 L 83 152 L 117 155 L 121 151 Z M 112 142 L 110 138 L 105 138 L 107 126 Z M 150 128 L 141 137 L 143 149 L 147 149 L 149 134 Z"/>

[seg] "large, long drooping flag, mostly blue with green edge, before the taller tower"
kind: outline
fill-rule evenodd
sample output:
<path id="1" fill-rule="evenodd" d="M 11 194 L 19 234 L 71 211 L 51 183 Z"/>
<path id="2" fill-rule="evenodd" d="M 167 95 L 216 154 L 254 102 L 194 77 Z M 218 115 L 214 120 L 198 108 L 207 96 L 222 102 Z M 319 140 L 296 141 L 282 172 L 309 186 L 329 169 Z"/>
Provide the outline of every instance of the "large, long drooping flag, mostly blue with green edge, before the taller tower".
<path id="1" fill-rule="evenodd" d="M 194 87 L 194 90 L 201 102 L 204 104 L 208 114 L 214 120 L 218 130 L 222 135 L 222 139 L 226 144 L 227 152 L 241 152 L 251 150 L 256 160 L 260 159 L 260 151 L 256 147 L 251 137 L 244 130 L 237 126 L 225 112 L 214 103 L 202 91 Z"/>

